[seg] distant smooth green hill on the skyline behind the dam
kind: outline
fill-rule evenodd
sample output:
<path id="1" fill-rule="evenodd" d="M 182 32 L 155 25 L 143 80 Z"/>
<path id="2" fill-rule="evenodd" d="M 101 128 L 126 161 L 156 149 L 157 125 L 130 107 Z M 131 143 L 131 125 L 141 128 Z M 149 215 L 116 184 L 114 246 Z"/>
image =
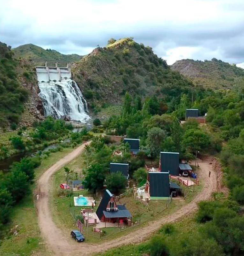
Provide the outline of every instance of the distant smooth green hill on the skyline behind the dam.
<path id="1" fill-rule="evenodd" d="M 62 54 L 55 50 L 44 50 L 34 44 L 24 44 L 13 49 L 16 58 L 37 59 L 37 60 L 60 60 L 60 61 L 78 61 L 82 56 L 78 54 Z"/>

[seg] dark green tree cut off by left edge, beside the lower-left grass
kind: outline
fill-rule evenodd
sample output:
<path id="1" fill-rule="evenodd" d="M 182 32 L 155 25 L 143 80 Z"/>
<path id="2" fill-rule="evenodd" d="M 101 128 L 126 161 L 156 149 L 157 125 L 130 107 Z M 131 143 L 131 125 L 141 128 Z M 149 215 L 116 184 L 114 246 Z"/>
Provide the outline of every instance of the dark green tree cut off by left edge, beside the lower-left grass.
<path id="1" fill-rule="evenodd" d="M 0 188 L 0 223 L 8 222 L 11 212 L 12 197 L 8 190 Z"/>

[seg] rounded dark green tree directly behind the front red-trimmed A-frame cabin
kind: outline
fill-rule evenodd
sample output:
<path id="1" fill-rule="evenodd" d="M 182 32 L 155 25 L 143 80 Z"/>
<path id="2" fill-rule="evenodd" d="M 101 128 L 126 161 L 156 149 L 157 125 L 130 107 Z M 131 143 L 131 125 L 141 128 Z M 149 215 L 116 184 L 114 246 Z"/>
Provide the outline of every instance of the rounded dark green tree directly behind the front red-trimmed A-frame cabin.
<path id="1" fill-rule="evenodd" d="M 119 194 L 127 184 L 126 177 L 121 172 L 112 172 L 106 178 L 106 185 L 109 191 L 115 195 Z"/>

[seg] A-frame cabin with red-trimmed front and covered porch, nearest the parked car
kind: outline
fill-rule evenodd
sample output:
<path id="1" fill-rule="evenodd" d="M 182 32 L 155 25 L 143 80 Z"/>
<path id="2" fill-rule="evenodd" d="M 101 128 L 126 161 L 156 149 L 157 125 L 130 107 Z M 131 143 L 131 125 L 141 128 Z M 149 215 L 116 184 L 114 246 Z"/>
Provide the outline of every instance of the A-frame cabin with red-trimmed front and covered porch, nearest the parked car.
<path id="1" fill-rule="evenodd" d="M 126 209 L 123 204 L 116 204 L 115 197 L 110 193 L 108 189 L 105 190 L 103 198 L 97 208 L 96 214 L 102 222 L 126 222 L 131 219 L 130 212 Z"/>

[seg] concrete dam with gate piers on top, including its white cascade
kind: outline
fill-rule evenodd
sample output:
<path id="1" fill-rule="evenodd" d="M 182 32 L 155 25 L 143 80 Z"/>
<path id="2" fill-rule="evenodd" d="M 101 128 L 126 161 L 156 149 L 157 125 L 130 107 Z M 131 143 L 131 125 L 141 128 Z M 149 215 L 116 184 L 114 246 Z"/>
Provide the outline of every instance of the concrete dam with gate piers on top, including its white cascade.
<path id="1" fill-rule="evenodd" d="M 49 67 L 50 62 L 54 65 Z M 86 123 L 90 119 L 86 100 L 72 80 L 69 63 L 66 67 L 58 67 L 59 63 L 46 61 L 44 66 L 35 67 L 44 115 L 55 118 L 65 116 Z"/>

